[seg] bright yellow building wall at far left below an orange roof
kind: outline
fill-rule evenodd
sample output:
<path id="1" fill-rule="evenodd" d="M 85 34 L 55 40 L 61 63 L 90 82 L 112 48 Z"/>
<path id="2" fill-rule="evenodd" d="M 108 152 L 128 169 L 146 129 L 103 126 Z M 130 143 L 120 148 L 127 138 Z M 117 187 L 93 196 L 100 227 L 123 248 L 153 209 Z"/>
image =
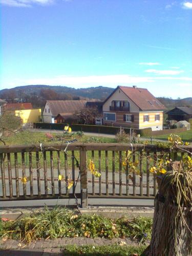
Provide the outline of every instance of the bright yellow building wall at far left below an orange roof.
<path id="1" fill-rule="evenodd" d="M 15 110 L 15 116 L 19 116 L 23 120 L 24 124 L 39 122 L 39 116 L 41 116 L 41 109 Z"/>

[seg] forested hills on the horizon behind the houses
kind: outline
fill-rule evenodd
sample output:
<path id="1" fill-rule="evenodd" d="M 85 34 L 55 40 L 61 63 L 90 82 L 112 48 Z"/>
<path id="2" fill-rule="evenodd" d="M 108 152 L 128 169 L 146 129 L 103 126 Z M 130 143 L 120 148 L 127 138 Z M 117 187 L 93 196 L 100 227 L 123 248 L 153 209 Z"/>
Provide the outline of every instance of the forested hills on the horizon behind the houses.
<path id="1" fill-rule="evenodd" d="M 0 98 L 7 99 L 9 102 L 31 102 L 34 107 L 41 107 L 45 105 L 46 100 L 96 99 L 103 101 L 113 90 L 114 88 L 102 86 L 74 89 L 66 86 L 37 84 L 0 90 Z M 175 106 L 192 106 L 192 97 L 185 99 L 158 97 L 158 99 L 167 109 L 173 109 Z"/>

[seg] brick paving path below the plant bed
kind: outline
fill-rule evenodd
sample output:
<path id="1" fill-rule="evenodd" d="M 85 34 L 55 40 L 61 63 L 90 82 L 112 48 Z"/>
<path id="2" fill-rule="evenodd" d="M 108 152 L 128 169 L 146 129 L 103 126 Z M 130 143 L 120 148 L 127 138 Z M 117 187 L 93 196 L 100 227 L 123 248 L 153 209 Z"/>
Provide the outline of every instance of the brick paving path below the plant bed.
<path id="1" fill-rule="evenodd" d="M 7 241 L 0 240 L 0 255 L 9 256 L 48 256 L 48 255 L 64 255 L 63 247 L 66 245 L 111 245 L 125 242 L 126 245 L 139 245 L 137 241 L 132 241 L 129 238 L 121 239 L 114 238 L 112 240 L 105 238 L 57 238 L 57 239 L 41 239 L 24 244 L 20 241 L 8 239 Z M 66 254 L 65 254 L 66 255 Z"/>

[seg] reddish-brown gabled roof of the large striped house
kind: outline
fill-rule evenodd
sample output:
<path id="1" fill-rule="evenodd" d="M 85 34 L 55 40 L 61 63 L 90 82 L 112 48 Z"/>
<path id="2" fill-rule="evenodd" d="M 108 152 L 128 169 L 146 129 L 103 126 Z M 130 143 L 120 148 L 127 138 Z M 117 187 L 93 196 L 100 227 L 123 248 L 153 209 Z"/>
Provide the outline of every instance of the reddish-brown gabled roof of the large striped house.
<path id="1" fill-rule="evenodd" d="M 140 110 L 144 111 L 166 109 L 165 106 L 156 97 L 154 97 L 147 89 L 125 86 L 118 86 L 115 89 L 115 91 L 117 89 L 121 89 L 123 93 L 126 94 L 126 96 L 129 97 L 139 107 Z M 106 100 L 108 100 L 111 97 L 111 95 Z"/>

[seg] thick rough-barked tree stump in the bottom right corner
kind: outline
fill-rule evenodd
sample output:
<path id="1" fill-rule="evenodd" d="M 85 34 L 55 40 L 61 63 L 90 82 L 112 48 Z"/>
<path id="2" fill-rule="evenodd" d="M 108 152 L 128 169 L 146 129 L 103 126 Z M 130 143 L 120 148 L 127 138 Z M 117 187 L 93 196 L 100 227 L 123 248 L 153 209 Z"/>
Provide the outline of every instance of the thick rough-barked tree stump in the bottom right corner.
<path id="1" fill-rule="evenodd" d="M 192 208 L 182 207 L 155 200 L 150 256 L 192 255 Z M 178 216 L 177 216 L 178 215 Z M 177 216 L 177 218 L 175 218 Z"/>

